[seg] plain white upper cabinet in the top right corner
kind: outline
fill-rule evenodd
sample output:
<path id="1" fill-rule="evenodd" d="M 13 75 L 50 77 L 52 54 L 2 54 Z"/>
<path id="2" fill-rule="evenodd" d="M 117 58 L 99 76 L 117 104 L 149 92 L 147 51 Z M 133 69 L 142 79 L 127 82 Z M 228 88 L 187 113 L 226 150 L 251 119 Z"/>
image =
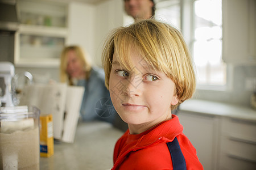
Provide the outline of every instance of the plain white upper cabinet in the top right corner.
<path id="1" fill-rule="evenodd" d="M 223 58 L 256 63 L 256 1 L 223 0 Z"/>

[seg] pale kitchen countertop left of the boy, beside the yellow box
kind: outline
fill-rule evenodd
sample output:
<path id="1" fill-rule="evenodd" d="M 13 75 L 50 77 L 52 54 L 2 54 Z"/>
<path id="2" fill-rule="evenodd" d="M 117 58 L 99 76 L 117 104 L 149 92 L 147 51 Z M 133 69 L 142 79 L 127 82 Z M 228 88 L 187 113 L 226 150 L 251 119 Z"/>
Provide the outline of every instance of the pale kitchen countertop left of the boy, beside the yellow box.
<path id="1" fill-rule="evenodd" d="M 54 155 L 40 158 L 40 170 L 111 169 L 115 142 L 123 131 L 107 122 L 79 122 L 74 143 L 54 143 Z"/>

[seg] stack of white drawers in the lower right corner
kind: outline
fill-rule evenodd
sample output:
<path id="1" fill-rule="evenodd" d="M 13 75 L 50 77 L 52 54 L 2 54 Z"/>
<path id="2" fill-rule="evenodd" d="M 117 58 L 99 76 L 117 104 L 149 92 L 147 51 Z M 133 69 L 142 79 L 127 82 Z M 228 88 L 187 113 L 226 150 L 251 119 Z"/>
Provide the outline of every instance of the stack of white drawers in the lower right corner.
<path id="1" fill-rule="evenodd" d="M 256 124 L 253 121 L 221 117 L 220 168 L 256 168 Z"/>

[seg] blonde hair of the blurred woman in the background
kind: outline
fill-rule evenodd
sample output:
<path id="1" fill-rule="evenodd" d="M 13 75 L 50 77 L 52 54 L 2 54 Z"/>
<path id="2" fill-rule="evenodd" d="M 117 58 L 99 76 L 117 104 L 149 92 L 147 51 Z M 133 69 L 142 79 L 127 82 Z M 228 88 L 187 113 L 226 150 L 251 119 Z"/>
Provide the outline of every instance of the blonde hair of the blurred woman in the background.
<path id="1" fill-rule="evenodd" d="M 89 59 L 85 56 L 84 51 L 80 46 L 72 45 L 72 46 L 66 46 L 60 56 L 60 82 L 68 82 L 69 85 L 73 85 L 71 76 L 67 73 L 67 66 L 68 66 L 68 52 L 73 50 L 79 59 L 79 61 L 82 63 L 82 66 L 84 66 L 85 71 L 85 78 L 88 79 L 90 75 L 90 70 L 92 69 L 92 66 L 90 64 Z"/>

